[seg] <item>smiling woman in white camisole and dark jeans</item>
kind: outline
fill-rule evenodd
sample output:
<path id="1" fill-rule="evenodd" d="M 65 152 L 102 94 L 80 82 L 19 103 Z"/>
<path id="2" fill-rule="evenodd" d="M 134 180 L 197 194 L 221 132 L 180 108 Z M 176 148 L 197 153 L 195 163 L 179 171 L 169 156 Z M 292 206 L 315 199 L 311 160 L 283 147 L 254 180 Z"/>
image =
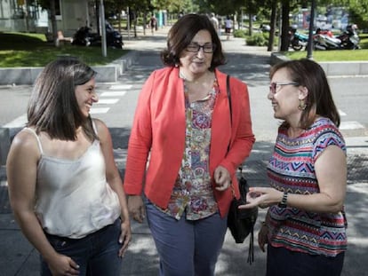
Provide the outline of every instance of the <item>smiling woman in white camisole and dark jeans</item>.
<path id="1" fill-rule="evenodd" d="M 90 116 L 95 74 L 77 59 L 44 67 L 8 155 L 12 210 L 41 275 L 120 275 L 131 240 L 111 137 Z"/>

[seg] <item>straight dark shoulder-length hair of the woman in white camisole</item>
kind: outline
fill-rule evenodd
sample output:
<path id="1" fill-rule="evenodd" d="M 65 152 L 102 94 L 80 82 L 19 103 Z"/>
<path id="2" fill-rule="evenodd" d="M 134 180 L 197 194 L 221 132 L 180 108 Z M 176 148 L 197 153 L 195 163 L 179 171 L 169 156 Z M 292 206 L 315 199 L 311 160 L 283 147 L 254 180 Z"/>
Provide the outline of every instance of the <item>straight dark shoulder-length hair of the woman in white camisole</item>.
<path id="1" fill-rule="evenodd" d="M 75 140 L 83 127 L 88 138 L 97 138 L 91 118 L 85 119 L 76 101 L 76 86 L 89 82 L 96 72 L 76 58 L 50 62 L 37 76 L 28 102 L 28 126 L 51 138 Z"/>

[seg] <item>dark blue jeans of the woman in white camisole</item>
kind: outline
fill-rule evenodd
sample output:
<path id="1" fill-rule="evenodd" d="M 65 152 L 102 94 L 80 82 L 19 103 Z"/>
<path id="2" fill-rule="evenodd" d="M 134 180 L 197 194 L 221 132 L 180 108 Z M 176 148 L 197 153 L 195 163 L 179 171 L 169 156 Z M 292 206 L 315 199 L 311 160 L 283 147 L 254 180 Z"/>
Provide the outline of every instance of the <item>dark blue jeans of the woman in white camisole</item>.
<path id="1" fill-rule="evenodd" d="M 80 276 L 119 276 L 123 261 L 118 256 L 122 247 L 119 243 L 120 225 L 121 221 L 118 218 L 114 224 L 107 225 L 82 239 L 68 239 L 47 233 L 46 237 L 58 253 L 70 256 L 76 264 L 79 264 Z M 42 257 L 41 275 L 52 275 Z"/>

